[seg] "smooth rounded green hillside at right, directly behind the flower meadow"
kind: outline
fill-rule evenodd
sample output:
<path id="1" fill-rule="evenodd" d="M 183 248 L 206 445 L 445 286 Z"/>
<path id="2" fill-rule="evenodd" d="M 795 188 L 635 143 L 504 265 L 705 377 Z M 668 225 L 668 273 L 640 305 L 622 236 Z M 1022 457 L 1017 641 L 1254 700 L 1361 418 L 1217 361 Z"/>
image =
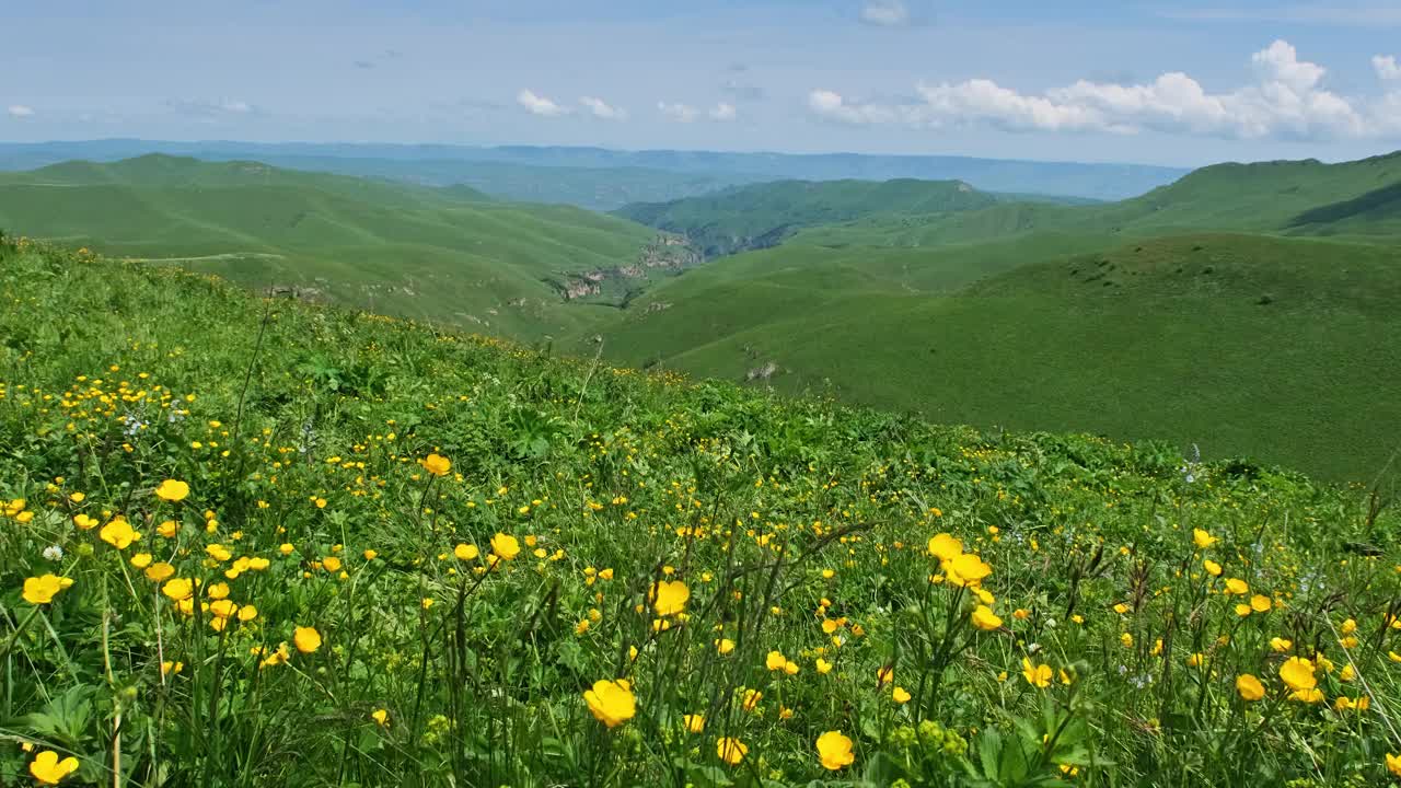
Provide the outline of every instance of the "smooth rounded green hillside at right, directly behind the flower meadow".
<path id="1" fill-rule="evenodd" d="M 675 279 L 594 332 L 625 363 L 738 380 L 772 362 L 783 391 L 944 422 L 1160 436 L 1342 480 L 1387 464 L 1395 247 L 1082 243 L 780 247 Z"/>

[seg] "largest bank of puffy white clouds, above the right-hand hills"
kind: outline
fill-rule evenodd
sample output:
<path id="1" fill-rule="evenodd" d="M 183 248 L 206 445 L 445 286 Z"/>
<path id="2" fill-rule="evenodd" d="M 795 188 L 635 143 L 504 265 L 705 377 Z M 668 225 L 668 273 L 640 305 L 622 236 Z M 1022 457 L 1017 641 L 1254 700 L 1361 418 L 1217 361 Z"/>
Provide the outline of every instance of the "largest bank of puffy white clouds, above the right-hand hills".
<path id="1" fill-rule="evenodd" d="M 918 101 L 853 102 L 829 90 L 808 95 L 818 116 L 845 123 L 909 123 L 926 128 L 982 125 L 1013 132 L 1143 130 L 1261 139 L 1377 136 L 1401 126 L 1401 98 L 1349 100 L 1323 87 L 1323 66 L 1300 60 L 1285 41 L 1251 57 L 1254 80 L 1209 93 L 1173 72 L 1145 84 L 1080 80 L 1041 94 L 1023 94 L 992 80 L 918 86 Z M 1374 59 L 1386 79 L 1394 60 Z"/>

